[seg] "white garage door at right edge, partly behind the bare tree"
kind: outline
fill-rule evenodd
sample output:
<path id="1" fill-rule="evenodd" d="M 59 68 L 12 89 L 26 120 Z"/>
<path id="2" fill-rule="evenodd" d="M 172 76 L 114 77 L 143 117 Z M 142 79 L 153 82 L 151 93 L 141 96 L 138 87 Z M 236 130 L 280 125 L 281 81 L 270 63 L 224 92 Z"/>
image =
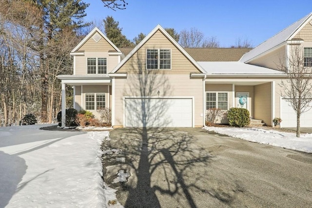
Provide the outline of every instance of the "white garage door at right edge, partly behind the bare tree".
<path id="1" fill-rule="evenodd" d="M 297 115 L 286 99 L 281 99 L 281 127 L 296 127 Z M 312 110 L 301 114 L 300 127 L 312 127 Z"/>

